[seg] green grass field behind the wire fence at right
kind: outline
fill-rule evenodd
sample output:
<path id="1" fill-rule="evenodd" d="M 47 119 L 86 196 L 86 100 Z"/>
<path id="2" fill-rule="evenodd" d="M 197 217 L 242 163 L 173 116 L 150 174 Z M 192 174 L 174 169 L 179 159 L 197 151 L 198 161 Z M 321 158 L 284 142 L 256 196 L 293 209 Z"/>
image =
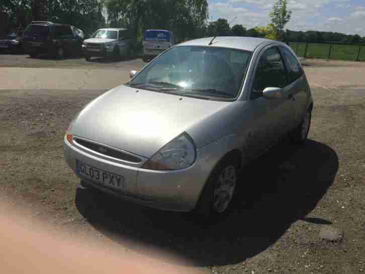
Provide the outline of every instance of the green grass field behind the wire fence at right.
<path id="1" fill-rule="evenodd" d="M 358 45 L 338 45 L 338 44 L 316 44 L 309 43 L 307 56 L 304 56 L 307 43 L 290 42 L 290 47 L 296 52 L 298 57 L 323 58 L 337 60 L 355 61 L 358 54 Z M 330 53 L 331 49 L 331 53 Z M 330 56 L 329 56 L 330 54 Z M 359 61 L 365 61 L 365 46 L 361 47 Z"/>

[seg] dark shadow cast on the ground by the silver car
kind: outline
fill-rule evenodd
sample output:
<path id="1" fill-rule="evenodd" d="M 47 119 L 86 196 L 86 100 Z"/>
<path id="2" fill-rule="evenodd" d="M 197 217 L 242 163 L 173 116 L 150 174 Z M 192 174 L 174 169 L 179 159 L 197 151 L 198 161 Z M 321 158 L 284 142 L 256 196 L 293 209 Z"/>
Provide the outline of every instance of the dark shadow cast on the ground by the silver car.
<path id="1" fill-rule="evenodd" d="M 297 220 L 329 224 L 306 216 L 337 170 L 338 157 L 329 146 L 313 140 L 301 147 L 282 142 L 243 170 L 230 213 L 212 223 L 89 189 L 78 188 L 75 203 L 92 226 L 115 242 L 157 248 L 193 265 L 227 265 L 265 250 Z"/>

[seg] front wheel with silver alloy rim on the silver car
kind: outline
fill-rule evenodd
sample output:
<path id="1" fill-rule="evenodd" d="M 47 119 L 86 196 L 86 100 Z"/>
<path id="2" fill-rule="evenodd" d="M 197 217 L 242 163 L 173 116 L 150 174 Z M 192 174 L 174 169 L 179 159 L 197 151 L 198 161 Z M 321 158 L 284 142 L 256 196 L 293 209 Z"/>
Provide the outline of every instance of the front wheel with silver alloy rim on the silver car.
<path id="1" fill-rule="evenodd" d="M 239 161 L 234 155 L 224 157 L 210 174 L 194 213 L 203 220 L 225 215 L 234 198 L 239 175 Z"/>

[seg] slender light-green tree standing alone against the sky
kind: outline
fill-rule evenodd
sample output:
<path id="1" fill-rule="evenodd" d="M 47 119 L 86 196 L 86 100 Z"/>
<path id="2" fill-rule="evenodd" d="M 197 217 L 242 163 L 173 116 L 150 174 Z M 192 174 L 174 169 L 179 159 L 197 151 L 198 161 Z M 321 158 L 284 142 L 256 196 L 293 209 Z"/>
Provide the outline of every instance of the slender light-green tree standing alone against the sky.
<path id="1" fill-rule="evenodd" d="M 285 25 L 290 21 L 292 11 L 288 10 L 287 0 L 279 0 L 270 12 L 271 24 L 278 35 L 282 36 Z"/>

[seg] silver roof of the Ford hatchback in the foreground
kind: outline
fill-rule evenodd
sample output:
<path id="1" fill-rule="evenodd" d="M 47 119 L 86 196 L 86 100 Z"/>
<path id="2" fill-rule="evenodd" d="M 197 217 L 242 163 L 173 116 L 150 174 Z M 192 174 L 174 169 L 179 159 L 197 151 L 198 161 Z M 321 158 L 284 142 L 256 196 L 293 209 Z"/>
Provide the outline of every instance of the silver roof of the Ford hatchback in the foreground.
<path id="1" fill-rule="evenodd" d="M 234 48 L 240 50 L 254 51 L 255 48 L 261 44 L 278 43 L 285 45 L 284 43 L 279 41 L 273 41 L 263 38 L 235 37 L 235 36 L 217 36 L 213 40 L 212 45 L 209 45 L 209 43 L 212 41 L 213 38 L 214 37 L 194 39 L 180 43 L 177 46 L 210 46 L 210 47 L 224 47 L 224 48 Z"/>

